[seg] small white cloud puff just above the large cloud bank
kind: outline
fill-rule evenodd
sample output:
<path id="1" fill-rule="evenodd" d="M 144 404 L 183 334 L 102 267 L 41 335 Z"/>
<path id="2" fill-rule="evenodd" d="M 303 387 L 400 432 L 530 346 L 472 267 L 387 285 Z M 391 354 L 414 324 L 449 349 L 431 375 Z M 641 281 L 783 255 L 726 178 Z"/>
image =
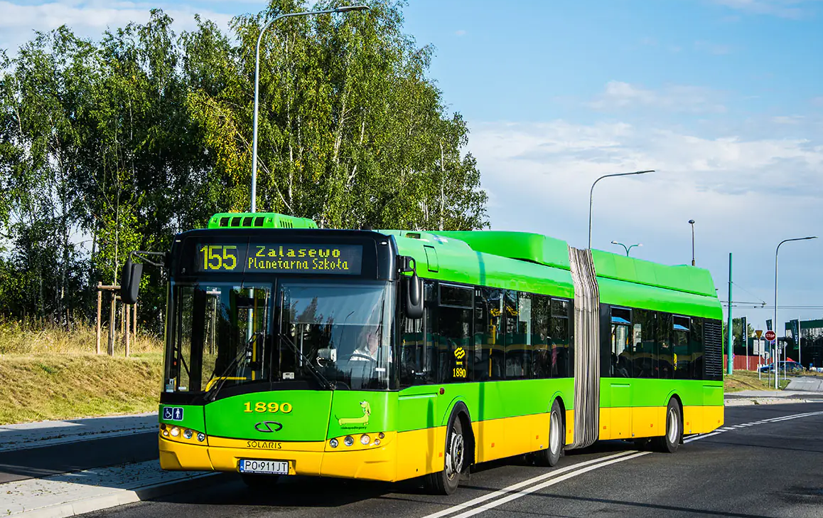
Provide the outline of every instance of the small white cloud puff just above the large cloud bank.
<path id="1" fill-rule="evenodd" d="M 588 103 L 594 110 L 621 110 L 650 108 L 657 110 L 723 113 L 725 106 L 718 101 L 719 92 L 702 86 L 668 85 L 660 90 L 649 90 L 627 82 L 610 81 L 602 94 Z"/>

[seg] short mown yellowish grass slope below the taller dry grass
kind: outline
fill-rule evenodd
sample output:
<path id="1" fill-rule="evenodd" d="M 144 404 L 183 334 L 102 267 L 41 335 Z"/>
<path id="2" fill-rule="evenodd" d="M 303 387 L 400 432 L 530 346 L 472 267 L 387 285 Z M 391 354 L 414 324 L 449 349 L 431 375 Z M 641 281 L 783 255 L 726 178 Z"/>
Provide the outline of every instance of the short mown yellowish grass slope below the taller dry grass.
<path id="1" fill-rule="evenodd" d="M 160 352 L 5 355 L 0 424 L 154 411 L 162 371 Z"/>

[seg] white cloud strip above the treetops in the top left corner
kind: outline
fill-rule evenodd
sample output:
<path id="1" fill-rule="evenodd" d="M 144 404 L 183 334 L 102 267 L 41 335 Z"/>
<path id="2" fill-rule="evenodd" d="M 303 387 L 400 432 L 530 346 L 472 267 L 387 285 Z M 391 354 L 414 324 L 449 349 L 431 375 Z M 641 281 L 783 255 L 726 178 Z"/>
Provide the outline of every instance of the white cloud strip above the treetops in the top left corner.
<path id="1" fill-rule="evenodd" d="M 151 8 L 163 8 L 174 19 L 174 30 L 196 27 L 194 15 L 215 21 L 226 29 L 231 16 L 208 9 L 167 0 L 165 2 L 105 2 L 105 0 L 52 0 L 39 4 L 20 4 L 0 0 L 0 49 L 16 49 L 34 37 L 35 30 L 47 31 L 68 26 L 81 37 L 100 38 L 106 29 L 126 26 L 129 21 L 145 23 Z"/>

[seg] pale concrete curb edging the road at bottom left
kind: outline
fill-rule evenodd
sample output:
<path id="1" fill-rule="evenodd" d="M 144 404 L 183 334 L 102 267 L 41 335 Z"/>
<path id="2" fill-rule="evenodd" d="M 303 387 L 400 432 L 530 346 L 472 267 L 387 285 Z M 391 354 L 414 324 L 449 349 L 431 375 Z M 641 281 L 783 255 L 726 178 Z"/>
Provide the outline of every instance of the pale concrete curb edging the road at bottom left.
<path id="1" fill-rule="evenodd" d="M 74 502 L 63 502 L 53 506 L 40 507 L 9 516 L 21 516 L 24 518 L 63 518 L 65 516 L 77 516 L 91 511 L 100 511 L 109 509 L 110 507 L 165 497 L 175 492 L 203 488 L 218 482 L 220 477 L 216 477 L 216 475 L 216 473 L 207 473 L 182 480 L 175 480 L 173 482 L 146 486 L 145 488 L 115 489 L 109 494 L 76 500 Z"/>

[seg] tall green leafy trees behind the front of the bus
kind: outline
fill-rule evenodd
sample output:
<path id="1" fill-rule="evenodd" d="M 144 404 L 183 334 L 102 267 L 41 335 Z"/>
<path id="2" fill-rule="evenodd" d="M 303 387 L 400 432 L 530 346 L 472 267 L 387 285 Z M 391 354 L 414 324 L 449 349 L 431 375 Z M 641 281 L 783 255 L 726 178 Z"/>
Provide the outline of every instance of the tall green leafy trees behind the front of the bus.
<path id="1" fill-rule="evenodd" d="M 258 210 L 325 227 L 487 226 L 466 121 L 427 77 L 433 50 L 403 33 L 403 2 L 370 7 L 263 36 Z M 231 34 L 198 18 L 181 35 L 154 10 L 96 42 L 60 27 L 0 54 L 0 314 L 91 318 L 96 283 L 118 282 L 130 251 L 248 210 L 254 49 L 267 21 L 305 8 L 272 0 Z M 146 275 L 141 320 L 160 329 L 165 291 Z"/>

